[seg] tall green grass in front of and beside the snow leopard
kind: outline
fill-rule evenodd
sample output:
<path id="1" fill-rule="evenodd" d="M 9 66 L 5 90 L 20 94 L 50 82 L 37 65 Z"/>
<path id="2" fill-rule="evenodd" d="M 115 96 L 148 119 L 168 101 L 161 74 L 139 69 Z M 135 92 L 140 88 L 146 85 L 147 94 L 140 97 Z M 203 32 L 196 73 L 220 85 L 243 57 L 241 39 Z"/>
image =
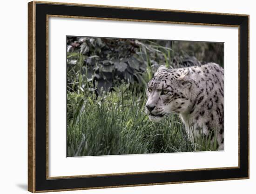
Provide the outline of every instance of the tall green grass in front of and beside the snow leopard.
<path id="1" fill-rule="evenodd" d="M 145 114 L 145 94 L 122 84 L 87 96 L 67 125 L 67 156 L 152 154 L 216 149 L 206 137 L 191 142 L 177 115 L 156 123 Z"/>

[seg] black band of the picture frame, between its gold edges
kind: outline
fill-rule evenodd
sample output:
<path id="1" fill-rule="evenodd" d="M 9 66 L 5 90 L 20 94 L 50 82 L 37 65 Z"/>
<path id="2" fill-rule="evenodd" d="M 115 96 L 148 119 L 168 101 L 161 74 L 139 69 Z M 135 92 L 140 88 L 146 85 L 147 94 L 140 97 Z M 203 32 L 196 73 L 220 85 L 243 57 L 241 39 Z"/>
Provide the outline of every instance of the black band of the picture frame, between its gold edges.
<path id="1" fill-rule="evenodd" d="M 195 170 L 166 173 L 102 175 L 97 177 L 46 179 L 46 19 L 47 14 L 192 22 L 240 26 L 240 167 L 231 169 Z M 208 13 L 187 13 L 159 10 L 139 10 L 116 7 L 82 7 L 36 3 L 36 191 L 111 187 L 246 178 L 248 174 L 248 17 Z M 56 78 L 57 79 L 57 78 Z"/>

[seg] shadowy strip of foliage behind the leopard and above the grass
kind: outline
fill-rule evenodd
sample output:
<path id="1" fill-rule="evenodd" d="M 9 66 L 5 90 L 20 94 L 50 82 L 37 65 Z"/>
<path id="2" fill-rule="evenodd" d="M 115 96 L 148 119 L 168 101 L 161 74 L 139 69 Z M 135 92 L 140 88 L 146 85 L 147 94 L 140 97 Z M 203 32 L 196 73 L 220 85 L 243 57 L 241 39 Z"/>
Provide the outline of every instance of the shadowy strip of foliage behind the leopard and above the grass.
<path id="1" fill-rule="evenodd" d="M 81 90 L 94 80 L 98 91 L 108 91 L 121 80 L 145 84 L 160 65 L 207 62 L 223 67 L 223 43 L 67 37 L 67 89 Z"/>

